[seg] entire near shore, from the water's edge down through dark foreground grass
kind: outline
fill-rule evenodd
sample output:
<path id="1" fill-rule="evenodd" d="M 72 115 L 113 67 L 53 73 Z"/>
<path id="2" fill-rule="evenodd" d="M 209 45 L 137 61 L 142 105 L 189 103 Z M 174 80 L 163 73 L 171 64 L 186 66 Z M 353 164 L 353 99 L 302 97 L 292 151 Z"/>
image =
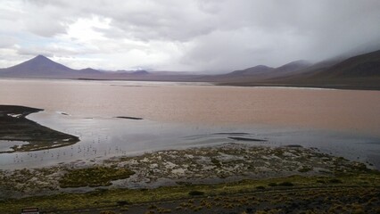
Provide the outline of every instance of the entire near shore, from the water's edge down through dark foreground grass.
<path id="1" fill-rule="evenodd" d="M 0 170 L 0 211 L 376 213 L 378 184 L 377 170 L 315 150 L 223 144 Z"/>

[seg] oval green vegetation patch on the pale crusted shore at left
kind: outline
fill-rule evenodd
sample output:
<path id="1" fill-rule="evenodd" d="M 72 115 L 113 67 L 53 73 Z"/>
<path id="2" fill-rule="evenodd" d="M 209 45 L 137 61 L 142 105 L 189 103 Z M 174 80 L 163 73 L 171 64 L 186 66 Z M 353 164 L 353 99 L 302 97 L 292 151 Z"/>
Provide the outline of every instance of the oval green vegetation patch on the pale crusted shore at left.
<path id="1" fill-rule="evenodd" d="M 92 167 L 87 169 L 70 169 L 59 180 L 62 188 L 80 186 L 105 186 L 112 185 L 112 180 L 125 179 L 135 172 L 129 169 L 116 167 Z"/>

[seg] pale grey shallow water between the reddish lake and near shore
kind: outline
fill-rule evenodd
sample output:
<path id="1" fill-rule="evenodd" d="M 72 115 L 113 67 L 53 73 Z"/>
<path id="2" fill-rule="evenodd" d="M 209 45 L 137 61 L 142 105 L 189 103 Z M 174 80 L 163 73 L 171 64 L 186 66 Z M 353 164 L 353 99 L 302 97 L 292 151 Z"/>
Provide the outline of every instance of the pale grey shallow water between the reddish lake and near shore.
<path id="1" fill-rule="evenodd" d="M 41 167 L 60 162 L 94 161 L 165 149 L 225 143 L 281 146 L 300 144 L 354 161 L 369 161 L 380 169 L 378 138 L 342 133 L 259 126 L 192 126 L 151 120 L 81 118 L 64 112 L 42 111 L 28 116 L 43 126 L 79 136 L 80 142 L 37 152 L 0 154 L 0 169 Z M 232 137 L 232 138 L 231 138 Z M 235 137 L 235 138 L 234 138 Z M 234 140 L 241 137 L 242 141 Z M 262 139 L 266 141 L 247 141 Z M 3 142 L 4 143 L 4 142 Z M 3 144 L 1 149 L 22 142 Z"/>

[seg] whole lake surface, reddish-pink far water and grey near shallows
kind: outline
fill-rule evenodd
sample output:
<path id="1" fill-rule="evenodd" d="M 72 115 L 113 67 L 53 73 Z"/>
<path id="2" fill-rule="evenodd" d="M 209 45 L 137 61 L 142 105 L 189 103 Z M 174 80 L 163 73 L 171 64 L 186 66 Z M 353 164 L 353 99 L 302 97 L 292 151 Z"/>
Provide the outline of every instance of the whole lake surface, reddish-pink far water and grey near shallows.
<path id="1" fill-rule="evenodd" d="M 0 154 L 0 169 L 236 142 L 231 136 L 267 140 L 244 144 L 317 147 L 380 169 L 377 91 L 0 79 L 0 104 L 45 109 L 28 118 L 81 140 Z M 12 144 L 1 143 L 2 151 Z"/>

